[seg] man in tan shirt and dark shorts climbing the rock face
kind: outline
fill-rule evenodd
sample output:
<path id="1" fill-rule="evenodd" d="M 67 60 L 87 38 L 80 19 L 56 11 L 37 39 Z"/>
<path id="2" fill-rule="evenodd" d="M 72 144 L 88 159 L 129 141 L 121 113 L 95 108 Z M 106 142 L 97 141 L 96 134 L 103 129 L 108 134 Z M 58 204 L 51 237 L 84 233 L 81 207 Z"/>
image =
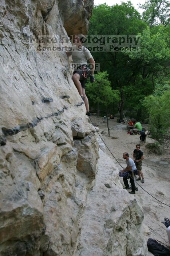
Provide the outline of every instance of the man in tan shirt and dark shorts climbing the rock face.
<path id="1" fill-rule="evenodd" d="M 71 51 L 66 52 L 66 54 L 68 57 L 72 55 L 72 60 L 74 64 L 74 73 L 72 76 L 72 80 L 85 103 L 86 114 L 87 116 L 90 116 L 88 98 L 85 94 L 86 78 L 83 75 L 82 66 L 87 66 L 87 60 L 89 60 L 89 62 L 93 65 L 93 68 L 90 71 L 90 82 L 94 82 L 95 61 L 90 51 L 82 45 L 82 42 L 84 42 L 85 39 L 86 38 L 82 34 L 76 35 L 73 41 L 75 45 L 73 45 Z"/>

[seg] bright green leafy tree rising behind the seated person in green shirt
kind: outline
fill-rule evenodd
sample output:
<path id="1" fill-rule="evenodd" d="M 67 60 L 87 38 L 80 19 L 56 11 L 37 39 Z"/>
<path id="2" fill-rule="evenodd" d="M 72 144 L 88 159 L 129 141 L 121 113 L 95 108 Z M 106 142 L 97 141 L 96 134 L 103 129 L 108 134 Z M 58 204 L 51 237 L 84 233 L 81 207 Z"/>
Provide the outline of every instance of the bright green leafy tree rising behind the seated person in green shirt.
<path id="1" fill-rule="evenodd" d="M 163 88 L 170 75 L 170 48 L 165 27 L 157 27 L 156 34 L 146 29 L 141 35 L 140 51 L 127 52 L 129 63 L 135 65 L 134 82 L 124 87 L 130 101 L 126 106 L 137 112 L 137 118 L 145 118 L 142 113 L 141 101 L 146 95 L 152 94 L 155 86 L 160 84 Z"/>

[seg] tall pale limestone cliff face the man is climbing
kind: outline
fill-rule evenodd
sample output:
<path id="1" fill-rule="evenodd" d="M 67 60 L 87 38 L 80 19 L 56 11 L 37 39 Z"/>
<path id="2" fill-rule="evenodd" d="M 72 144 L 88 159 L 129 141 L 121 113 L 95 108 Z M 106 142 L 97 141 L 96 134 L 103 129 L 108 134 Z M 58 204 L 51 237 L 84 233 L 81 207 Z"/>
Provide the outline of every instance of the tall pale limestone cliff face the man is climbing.
<path id="1" fill-rule="evenodd" d="M 130 248 L 143 215 L 122 190 L 114 163 L 105 166 L 101 153 L 100 168 L 96 132 L 72 82 L 65 48 L 38 50 L 30 41 L 33 35 L 86 33 L 92 5 L 90 0 L 0 1 L 0 255 L 92 255 L 94 250 L 114 255 L 113 248 L 122 250 L 119 237 L 128 255 L 145 251 L 140 243 Z M 126 196 L 123 203 L 117 196 Z M 93 247 L 85 221 L 91 223 L 90 237 L 101 224 L 93 232 L 101 244 L 94 236 Z"/>

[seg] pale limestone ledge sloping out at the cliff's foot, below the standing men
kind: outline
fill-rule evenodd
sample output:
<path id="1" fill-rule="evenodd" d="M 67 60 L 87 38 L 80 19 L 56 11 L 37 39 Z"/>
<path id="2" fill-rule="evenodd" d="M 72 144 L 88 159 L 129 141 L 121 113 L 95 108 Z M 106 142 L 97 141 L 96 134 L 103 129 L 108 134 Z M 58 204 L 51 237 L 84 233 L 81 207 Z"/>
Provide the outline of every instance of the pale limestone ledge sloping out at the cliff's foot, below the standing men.
<path id="1" fill-rule="evenodd" d="M 122 189 L 112 159 L 100 149 L 99 155 L 98 175 L 87 199 L 74 255 L 146 256 L 142 209 L 135 197 Z"/>

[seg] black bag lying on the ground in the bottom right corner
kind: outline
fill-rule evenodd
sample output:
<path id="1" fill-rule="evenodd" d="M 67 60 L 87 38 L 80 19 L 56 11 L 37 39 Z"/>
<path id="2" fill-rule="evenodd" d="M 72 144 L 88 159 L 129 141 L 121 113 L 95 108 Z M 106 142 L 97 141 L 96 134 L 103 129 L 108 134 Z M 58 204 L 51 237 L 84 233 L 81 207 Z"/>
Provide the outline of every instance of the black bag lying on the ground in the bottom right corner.
<path id="1" fill-rule="evenodd" d="M 165 246 L 159 244 L 156 240 L 149 238 L 147 240 L 147 249 L 155 256 L 170 256 L 170 251 Z"/>

